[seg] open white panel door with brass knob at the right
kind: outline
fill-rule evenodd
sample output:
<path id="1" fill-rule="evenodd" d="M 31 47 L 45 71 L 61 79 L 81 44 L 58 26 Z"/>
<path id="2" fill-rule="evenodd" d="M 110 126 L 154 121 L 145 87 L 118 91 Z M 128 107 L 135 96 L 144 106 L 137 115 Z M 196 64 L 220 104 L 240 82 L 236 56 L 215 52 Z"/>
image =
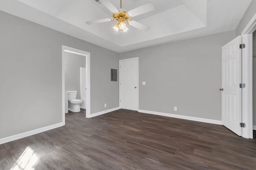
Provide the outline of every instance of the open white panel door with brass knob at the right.
<path id="1" fill-rule="evenodd" d="M 222 124 L 241 136 L 241 36 L 222 47 Z"/>

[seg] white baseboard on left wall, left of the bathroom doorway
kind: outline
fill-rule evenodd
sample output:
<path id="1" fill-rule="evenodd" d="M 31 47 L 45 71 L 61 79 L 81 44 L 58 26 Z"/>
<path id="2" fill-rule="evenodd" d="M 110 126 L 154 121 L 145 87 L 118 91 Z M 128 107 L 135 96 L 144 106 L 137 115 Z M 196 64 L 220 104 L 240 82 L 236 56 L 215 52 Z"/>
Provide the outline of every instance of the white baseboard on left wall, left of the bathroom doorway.
<path id="1" fill-rule="evenodd" d="M 46 126 L 46 127 L 41 127 L 39 129 L 34 129 L 34 130 L 31 130 L 31 131 L 27 131 L 27 132 L 24 132 L 24 133 L 19 133 L 17 135 L 12 135 L 12 136 L 9 136 L 9 137 L 4 137 L 4 138 L 0 139 L 0 145 L 3 144 L 3 143 L 7 143 L 7 142 L 10 142 L 10 141 L 15 141 L 17 139 L 21 139 L 21 138 L 24 138 L 24 137 L 35 135 L 37 133 L 42 133 L 44 131 L 55 129 L 55 128 L 61 127 L 61 126 L 63 126 L 62 122 L 54 124 L 54 125 Z"/>

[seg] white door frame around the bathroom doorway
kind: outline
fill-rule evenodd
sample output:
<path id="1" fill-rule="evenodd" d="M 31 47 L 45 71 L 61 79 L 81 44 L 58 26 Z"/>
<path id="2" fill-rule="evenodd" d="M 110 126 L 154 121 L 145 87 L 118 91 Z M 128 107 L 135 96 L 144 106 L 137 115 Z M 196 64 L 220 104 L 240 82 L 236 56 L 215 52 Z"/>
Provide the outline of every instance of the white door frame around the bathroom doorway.
<path id="1" fill-rule="evenodd" d="M 62 123 L 65 125 L 65 53 L 69 52 L 86 57 L 86 117 L 90 117 L 90 53 L 62 45 Z"/>

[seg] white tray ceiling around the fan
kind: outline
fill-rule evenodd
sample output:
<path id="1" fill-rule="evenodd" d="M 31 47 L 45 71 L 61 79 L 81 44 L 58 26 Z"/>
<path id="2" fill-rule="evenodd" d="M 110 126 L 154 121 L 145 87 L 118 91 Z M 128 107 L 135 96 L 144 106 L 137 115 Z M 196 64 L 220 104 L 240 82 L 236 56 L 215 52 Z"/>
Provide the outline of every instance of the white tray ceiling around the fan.
<path id="1" fill-rule="evenodd" d="M 111 18 L 95 0 L 1 0 L 0 10 L 39 23 L 118 53 L 183 39 L 234 30 L 252 0 L 122 0 L 126 11 L 151 2 L 155 10 L 132 18 L 150 27 L 131 25 L 116 33 L 117 21 L 87 25 L 89 20 Z M 120 8 L 120 0 L 110 0 Z"/>

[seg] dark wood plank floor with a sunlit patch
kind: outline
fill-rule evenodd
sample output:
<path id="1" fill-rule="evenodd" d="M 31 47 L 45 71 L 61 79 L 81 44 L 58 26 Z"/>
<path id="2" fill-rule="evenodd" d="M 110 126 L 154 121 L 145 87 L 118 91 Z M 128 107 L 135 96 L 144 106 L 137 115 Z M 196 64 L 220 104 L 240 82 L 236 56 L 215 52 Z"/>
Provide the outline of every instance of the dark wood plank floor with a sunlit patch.
<path id="1" fill-rule="evenodd" d="M 256 169 L 256 139 L 221 125 L 120 109 L 0 145 L 0 169 Z"/>

